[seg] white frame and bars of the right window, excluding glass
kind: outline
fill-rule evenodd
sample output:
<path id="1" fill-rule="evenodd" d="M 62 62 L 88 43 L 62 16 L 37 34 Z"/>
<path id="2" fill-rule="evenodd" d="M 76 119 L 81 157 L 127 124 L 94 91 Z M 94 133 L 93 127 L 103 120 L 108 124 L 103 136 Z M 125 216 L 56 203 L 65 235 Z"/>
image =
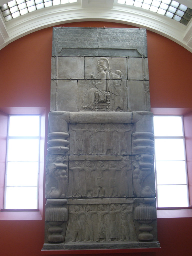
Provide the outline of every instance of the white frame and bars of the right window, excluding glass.
<path id="1" fill-rule="evenodd" d="M 156 162 L 160 161 L 160 160 L 156 160 L 155 155 L 154 155 L 154 168 L 155 168 L 155 186 L 156 186 L 156 204 L 157 204 L 157 208 L 166 208 L 166 209 L 184 209 L 187 207 L 190 207 L 190 201 L 189 201 L 189 185 L 188 185 L 188 172 L 187 172 L 187 157 L 186 157 L 186 146 L 185 146 L 185 131 L 184 131 L 184 120 L 183 120 L 183 115 L 173 115 L 173 114 L 154 114 L 155 116 L 178 116 L 181 117 L 181 122 L 182 122 L 182 132 L 183 135 L 182 136 L 155 136 L 154 135 L 154 147 L 155 147 L 155 139 L 182 139 L 183 140 L 183 145 L 184 145 L 184 160 L 182 160 L 185 163 L 185 175 L 186 175 L 186 184 L 157 184 L 157 167 L 156 167 Z M 163 161 L 163 160 L 162 160 Z M 170 161 L 172 162 L 173 160 L 164 160 L 164 161 Z M 158 206 L 158 186 L 161 185 L 186 185 L 187 186 L 187 202 L 188 202 L 188 206 L 175 206 L 175 207 L 159 207 Z"/>

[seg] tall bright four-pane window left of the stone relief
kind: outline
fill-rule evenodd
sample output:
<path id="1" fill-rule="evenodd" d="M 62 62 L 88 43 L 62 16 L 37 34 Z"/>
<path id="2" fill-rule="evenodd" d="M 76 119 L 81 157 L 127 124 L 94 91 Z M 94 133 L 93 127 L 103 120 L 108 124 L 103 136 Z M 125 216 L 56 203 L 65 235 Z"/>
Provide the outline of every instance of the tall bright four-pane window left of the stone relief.
<path id="1" fill-rule="evenodd" d="M 9 115 L 5 209 L 37 209 L 40 115 Z"/>

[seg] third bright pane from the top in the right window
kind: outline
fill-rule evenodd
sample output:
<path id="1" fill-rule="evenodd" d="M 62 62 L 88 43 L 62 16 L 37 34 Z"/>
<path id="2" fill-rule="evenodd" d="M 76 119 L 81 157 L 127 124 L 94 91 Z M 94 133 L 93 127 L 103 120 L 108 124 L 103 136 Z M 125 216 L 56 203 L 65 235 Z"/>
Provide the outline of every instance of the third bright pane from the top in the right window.
<path id="1" fill-rule="evenodd" d="M 186 184 L 185 161 L 156 161 L 157 184 Z"/>

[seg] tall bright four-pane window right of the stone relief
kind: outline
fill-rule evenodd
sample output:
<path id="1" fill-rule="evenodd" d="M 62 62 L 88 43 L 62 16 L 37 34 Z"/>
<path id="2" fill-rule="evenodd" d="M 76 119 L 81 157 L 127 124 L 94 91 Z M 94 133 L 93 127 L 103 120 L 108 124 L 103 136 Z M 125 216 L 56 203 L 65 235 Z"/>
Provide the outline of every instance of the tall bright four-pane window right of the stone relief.
<path id="1" fill-rule="evenodd" d="M 154 116 L 157 207 L 187 207 L 188 186 L 182 116 Z"/>

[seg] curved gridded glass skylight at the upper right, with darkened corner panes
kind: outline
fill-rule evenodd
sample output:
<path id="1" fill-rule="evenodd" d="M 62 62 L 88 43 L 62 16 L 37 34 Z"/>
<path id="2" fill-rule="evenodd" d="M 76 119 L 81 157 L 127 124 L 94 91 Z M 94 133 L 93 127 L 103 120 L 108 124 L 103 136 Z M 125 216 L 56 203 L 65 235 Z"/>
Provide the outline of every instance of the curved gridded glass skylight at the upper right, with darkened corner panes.
<path id="1" fill-rule="evenodd" d="M 132 5 L 165 15 L 184 25 L 192 17 L 192 9 L 173 0 L 118 0 L 118 4 Z"/>

